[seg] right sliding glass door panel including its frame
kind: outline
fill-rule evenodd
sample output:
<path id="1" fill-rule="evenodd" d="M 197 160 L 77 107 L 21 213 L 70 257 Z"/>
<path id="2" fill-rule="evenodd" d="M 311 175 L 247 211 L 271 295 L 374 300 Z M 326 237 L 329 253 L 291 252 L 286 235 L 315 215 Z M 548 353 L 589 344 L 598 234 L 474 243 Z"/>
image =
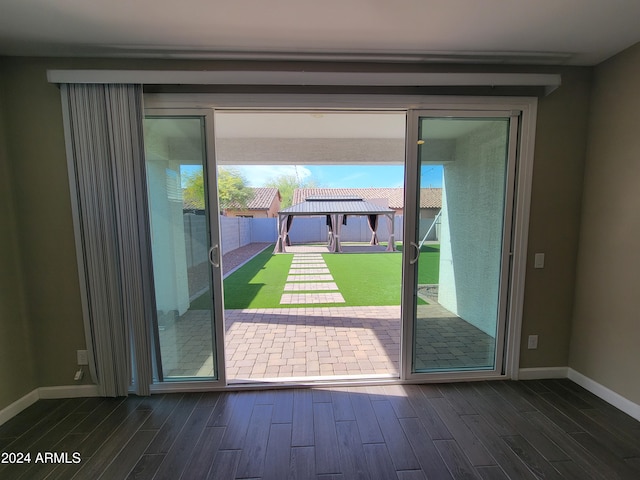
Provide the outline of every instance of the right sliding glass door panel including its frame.
<path id="1" fill-rule="evenodd" d="M 406 376 L 501 375 L 518 117 L 417 112 L 410 125 Z"/>

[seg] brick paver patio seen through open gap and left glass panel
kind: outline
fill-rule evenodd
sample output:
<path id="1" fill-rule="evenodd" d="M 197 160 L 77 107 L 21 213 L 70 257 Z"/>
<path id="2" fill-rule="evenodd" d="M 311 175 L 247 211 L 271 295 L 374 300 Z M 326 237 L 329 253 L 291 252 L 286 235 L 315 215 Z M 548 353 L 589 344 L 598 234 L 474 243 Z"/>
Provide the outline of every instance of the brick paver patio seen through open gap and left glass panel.
<path id="1" fill-rule="evenodd" d="M 161 332 L 165 376 L 213 375 L 208 310 L 190 310 Z M 398 375 L 400 307 L 225 311 L 231 381 Z"/>

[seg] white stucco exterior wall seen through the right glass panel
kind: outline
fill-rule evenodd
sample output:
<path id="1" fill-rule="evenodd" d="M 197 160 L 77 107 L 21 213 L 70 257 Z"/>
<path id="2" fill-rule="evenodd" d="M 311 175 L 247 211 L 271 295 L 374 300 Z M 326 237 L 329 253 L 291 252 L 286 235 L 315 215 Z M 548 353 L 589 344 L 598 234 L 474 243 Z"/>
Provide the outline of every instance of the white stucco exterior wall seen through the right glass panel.
<path id="1" fill-rule="evenodd" d="M 460 136 L 444 166 L 439 303 L 495 337 L 508 122 Z"/>

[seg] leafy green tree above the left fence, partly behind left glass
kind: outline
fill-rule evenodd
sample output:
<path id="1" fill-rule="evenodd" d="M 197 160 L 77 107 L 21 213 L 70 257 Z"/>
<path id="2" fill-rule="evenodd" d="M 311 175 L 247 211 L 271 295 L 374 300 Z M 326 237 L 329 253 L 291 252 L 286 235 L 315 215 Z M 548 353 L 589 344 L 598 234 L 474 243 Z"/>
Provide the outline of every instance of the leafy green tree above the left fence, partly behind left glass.
<path id="1" fill-rule="evenodd" d="M 188 173 L 184 178 L 183 197 L 190 208 L 204 210 L 204 176 L 202 170 Z M 253 191 L 247 187 L 242 174 L 233 168 L 218 169 L 218 202 L 220 210 L 225 208 L 246 208 Z"/>

